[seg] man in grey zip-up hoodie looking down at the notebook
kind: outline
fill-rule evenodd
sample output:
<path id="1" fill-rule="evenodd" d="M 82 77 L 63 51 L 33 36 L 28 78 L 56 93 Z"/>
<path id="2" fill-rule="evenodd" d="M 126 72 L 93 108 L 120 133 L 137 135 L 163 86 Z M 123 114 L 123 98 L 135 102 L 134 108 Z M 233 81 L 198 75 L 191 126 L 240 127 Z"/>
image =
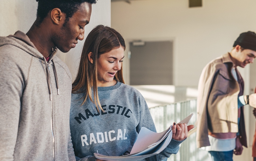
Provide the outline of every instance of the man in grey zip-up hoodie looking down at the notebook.
<path id="1" fill-rule="evenodd" d="M 0 160 L 75 160 L 71 74 L 57 58 L 84 38 L 96 0 L 37 0 L 24 34 L 0 37 Z"/>

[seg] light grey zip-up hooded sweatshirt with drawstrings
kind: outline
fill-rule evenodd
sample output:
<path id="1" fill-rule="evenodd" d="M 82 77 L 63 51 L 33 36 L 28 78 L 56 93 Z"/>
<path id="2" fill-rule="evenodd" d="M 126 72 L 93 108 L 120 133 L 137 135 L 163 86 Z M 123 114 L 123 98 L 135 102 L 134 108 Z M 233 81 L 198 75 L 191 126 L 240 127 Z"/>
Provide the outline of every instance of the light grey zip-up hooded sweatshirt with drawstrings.
<path id="1" fill-rule="evenodd" d="M 1 161 L 75 160 L 71 74 L 56 51 L 47 63 L 24 33 L 0 37 Z"/>

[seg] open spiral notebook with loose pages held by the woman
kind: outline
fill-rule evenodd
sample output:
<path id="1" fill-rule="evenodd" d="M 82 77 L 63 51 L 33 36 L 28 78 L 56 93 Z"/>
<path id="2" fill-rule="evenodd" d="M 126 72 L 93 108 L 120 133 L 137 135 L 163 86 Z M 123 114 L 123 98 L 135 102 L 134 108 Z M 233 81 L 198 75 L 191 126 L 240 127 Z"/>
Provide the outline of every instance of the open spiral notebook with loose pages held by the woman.
<path id="1" fill-rule="evenodd" d="M 193 113 L 179 123 L 188 124 L 192 115 Z M 145 127 L 142 127 L 129 155 L 105 156 L 99 154 L 98 151 L 97 153 L 94 153 L 94 155 L 97 159 L 106 161 L 137 161 L 159 154 L 169 145 L 171 139 L 172 126 L 160 133 L 156 133 Z"/>

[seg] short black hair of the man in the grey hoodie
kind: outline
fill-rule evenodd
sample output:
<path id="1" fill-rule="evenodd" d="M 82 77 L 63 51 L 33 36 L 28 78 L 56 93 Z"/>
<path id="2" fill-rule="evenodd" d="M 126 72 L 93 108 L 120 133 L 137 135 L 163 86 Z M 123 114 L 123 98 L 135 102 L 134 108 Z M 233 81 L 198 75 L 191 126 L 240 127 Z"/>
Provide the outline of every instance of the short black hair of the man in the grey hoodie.
<path id="1" fill-rule="evenodd" d="M 47 16 L 49 11 L 54 8 L 59 8 L 66 14 L 66 22 L 70 17 L 79 9 L 79 6 L 84 3 L 96 3 L 96 0 L 36 0 L 38 2 L 37 7 L 37 19 L 41 23 Z"/>

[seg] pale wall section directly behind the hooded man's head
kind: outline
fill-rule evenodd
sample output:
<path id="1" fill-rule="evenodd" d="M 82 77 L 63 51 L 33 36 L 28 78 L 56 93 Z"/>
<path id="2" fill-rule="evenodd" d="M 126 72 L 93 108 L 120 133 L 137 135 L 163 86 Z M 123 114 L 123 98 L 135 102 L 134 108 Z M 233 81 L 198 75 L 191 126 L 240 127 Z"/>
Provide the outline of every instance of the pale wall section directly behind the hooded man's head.
<path id="1" fill-rule="evenodd" d="M 14 34 L 17 30 L 26 33 L 36 19 L 37 2 L 36 0 L 1 0 L 0 5 L 0 36 Z M 92 5 L 91 20 L 85 27 L 85 38 L 88 33 L 98 24 L 110 26 L 111 24 L 111 1 L 98 0 Z M 81 50 L 85 39 L 79 41 L 76 48 L 71 49 L 68 53 L 58 51 L 57 56 L 62 59 L 75 79 Z"/>

